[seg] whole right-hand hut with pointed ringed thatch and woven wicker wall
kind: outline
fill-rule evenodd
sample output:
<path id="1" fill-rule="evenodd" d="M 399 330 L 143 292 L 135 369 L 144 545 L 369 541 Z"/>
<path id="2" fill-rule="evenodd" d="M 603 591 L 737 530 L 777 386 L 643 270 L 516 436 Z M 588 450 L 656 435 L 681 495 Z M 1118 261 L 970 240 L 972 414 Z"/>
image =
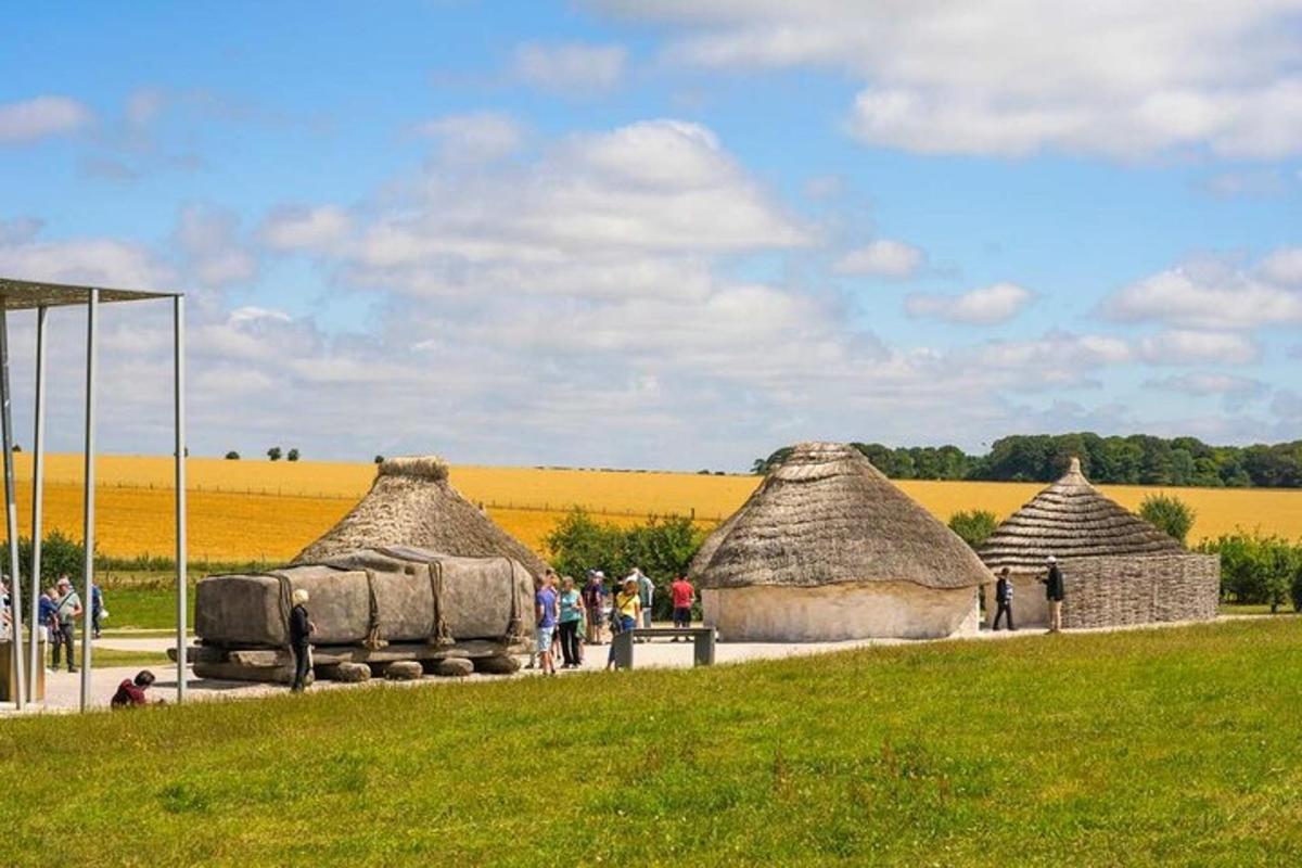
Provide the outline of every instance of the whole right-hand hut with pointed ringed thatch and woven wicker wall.
<path id="1" fill-rule="evenodd" d="M 1009 569 L 1018 626 L 1048 623 L 1048 557 L 1059 561 L 1064 627 L 1109 627 L 1216 617 L 1220 560 L 1194 554 L 1104 497 L 1072 459 L 1066 475 L 999 526 L 980 548 L 992 571 Z M 993 617 L 987 591 L 987 618 Z"/>

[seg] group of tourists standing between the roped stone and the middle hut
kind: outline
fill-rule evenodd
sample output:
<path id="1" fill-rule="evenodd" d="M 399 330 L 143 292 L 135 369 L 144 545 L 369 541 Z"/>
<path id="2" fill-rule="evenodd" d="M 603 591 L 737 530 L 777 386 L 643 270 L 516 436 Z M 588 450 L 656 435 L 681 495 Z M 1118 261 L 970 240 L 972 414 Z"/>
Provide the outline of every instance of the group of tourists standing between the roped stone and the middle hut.
<path id="1" fill-rule="evenodd" d="M 559 578 L 548 570 L 534 595 L 536 644 L 527 668 L 539 666 L 543 674 L 555 675 L 556 658 L 560 657 L 561 669 L 578 669 L 583 665 L 585 645 L 605 644 L 609 629 L 612 644 L 605 668 L 613 669 L 615 635 L 638 627 L 650 629 L 655 595 L 655 582 L 639 567 L 633 567 L 631 573 L 611 587 L 602 570 L 589 570 L 582 588 L 577 587 L 572 576 Z M 697 590 L 687 576 L 680 575 L 669 584 L 669 596 L 673 604 L 673 626 L 690 627 Z M 673 640 L 677 642 L 678 638 L 674 636 Z"/>

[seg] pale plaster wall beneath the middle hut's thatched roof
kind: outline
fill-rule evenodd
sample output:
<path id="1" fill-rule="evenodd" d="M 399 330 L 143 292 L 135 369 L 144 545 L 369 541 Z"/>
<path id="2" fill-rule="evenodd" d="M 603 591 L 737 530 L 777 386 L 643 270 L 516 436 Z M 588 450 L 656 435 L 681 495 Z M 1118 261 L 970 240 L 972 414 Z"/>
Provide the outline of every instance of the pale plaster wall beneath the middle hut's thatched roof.
<path id="1" fill-rule="evenodd" d="M 911 582 L 707 588 L 700 604 L 724 642 L 936 639 L 971 635 L 980 625 L 976 588 L 937 591 Z"/>

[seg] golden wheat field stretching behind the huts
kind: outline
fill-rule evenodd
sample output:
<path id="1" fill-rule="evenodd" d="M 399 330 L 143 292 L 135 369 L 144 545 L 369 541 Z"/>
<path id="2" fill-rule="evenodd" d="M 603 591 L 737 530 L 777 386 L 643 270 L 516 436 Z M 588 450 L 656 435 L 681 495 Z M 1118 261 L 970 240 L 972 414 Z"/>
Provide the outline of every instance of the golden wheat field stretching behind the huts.
<path id="1" fill-rule="evenodd" d="M 31 457 L 17 455 L 18 518 L 31 518 Z M 189 545 L 195 561 L 281 561 L 339 521 L 375 475 L 368 463 L 268 462 L 190 458 Z M 171 554 L 172 462 L 165 457 L 104 455 L 95 465 L 96 539 L 104 554 Z M 49 455 L 46 465 L 46 527 L 81 537 L 79 455 Z M 534 467 L 452 468 L 453 484 L 538 550 L 557 521 L 583 506 L 604 521 L 629 524 L 650 514 L 697 517 L 710 527 L 754 489 L 755 476 L 551 470 Z M 1040 489 L 1036 483 L 901 481 L 900 487 L 937 518 L 965 509 L 1008 515 Z M 1156 488 L 1104 485 L 1137 509 Z M 1193 540 L 1236 527 L 1302 537 L 1302 491 L 1168 489 L 1198 510 Z"/>

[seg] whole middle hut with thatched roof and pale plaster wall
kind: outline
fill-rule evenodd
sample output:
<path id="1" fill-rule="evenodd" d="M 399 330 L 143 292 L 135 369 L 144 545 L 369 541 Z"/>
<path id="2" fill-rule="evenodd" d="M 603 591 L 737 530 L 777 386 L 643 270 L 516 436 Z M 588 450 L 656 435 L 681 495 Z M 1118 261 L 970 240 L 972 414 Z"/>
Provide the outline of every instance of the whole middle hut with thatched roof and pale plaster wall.
<path id="1" fill-rule="evenodd" d="M 975 632 L 992 582 L 948 527 L 857 449 L 805 442 L 706 540 L 691 567 L 724 640 Z"/>

